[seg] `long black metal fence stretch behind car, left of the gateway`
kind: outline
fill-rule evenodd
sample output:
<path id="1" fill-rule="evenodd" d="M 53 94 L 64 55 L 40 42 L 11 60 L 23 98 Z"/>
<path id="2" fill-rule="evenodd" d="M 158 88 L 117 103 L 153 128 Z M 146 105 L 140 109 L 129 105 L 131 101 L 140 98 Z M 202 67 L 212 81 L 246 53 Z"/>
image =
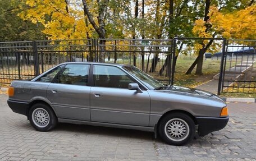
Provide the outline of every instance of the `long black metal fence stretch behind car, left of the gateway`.
<path id="1" fill-rule="evenodd" d="M 0 43 L 0 83 L 32 79 L 63 62 L 98 62 L 102 52 L 104 62 L 135 65 L 158 80 L 169 81 L 172 43 L 173 40 L 137 39 L 3 42 Z"/>

